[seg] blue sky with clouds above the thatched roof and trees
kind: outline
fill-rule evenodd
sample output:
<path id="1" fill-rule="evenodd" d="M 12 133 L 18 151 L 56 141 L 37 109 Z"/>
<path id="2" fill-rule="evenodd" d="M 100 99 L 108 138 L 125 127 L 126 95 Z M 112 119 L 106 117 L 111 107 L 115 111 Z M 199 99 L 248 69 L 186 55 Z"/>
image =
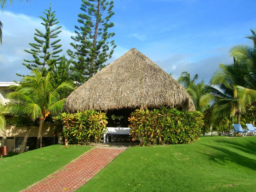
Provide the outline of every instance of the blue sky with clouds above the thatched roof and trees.
<path id="1" fill-rule="evenodd" d="M 114 0 L 109 31 L 117 45 L 113 60 L 135 47 L 177 79 L 182 71 L 198 81 L 209 82 L 220 63 L 232 62 L 229 50 L 237 44 L 249 44 L 244 38 L 256 28 L 255 0 Z M 22 65 L 30 54 L 35 28 L 43 29 L 39 16 L 45 9 L 56 11 L 62 26 L 59 38 L 63 53 L 71 48 L 70 36 L 77 25 L 80 0 L 16 0 L 0 13 L 4 23 L 0 46 L 0 81 L 19 81 L 15 73 L 28 74 Z"/>

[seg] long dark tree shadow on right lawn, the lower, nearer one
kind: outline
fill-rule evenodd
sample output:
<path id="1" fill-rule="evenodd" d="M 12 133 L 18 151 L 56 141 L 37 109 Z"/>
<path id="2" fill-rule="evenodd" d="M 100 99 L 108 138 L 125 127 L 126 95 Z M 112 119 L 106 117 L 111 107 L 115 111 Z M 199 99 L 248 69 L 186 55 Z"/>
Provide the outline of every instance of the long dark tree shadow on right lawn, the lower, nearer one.
<path id="1" fill-rule="evenodd" d="M 205 154 L 207 156 L 210 156 L 211 160 L 216 162 L 216 163 L 225 165 L 227 161 L 230 161 L 230 162 L 234 162 L 238 165 L 248 167 L 248 168 L 256 171 L 255 159 L 251 159 L 251 158 L 248 158 L 246 156 L 240 155 L 236 152 L 228 150 L 227 148 L 214 147 L 214 146 L 209 146 L 209 145 L 206 145 L 206 144 L 201 144 L 201 145 L 204 145 L 204 146 L 207 146 L 209 148 L 213 148 L 215 150 L 218 150 L 218 151 L 222 152 L 222 153 L 218 153 L 218 154 Z M 245 152 L 245 150 L 241 147 L 238 147 L 236 149 L 240 150 L 242 152 Z M 250 154 L 252 154 L 252 153 L 250 152 Z M 253 152 L 253 154 L 255 154 L 255 152 Z"/>

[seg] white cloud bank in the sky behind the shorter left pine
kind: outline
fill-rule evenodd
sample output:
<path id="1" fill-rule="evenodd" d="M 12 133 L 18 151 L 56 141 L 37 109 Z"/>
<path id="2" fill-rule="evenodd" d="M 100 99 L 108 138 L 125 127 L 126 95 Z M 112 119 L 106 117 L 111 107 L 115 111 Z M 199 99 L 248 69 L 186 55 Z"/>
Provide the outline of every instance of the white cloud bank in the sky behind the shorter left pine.
<path id="1" fill-rule="evenodd" d="M 16 73 L 27 75 L 29 70 L 22 65 L 24 59 L 32 59 L 31 54 L 25 52 L 25 49 L 30 50 L 32 47 L 29 43 L 34 43 L 35 28 L 44 31 L 44 26 L 41 24 L 40 18 L 29 17 L 24 14 L 15 14 L 4 11 L 1 17 L 3 26 L 3 44 L 0 46 L 0 81 L 20 81 L 20 77 Z M 58 35 L 61 39 L 61 49 L 66 53 L 68 48 L 71 48 L 70 36 L 74 33 L 66 30 L 65 26 L 60 28 L 62 32 Z"/>

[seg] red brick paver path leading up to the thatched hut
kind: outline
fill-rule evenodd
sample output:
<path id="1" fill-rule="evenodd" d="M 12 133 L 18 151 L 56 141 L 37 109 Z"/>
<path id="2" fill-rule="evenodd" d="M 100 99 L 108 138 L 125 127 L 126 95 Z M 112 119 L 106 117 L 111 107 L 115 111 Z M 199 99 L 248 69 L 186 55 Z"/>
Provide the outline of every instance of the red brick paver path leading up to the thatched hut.
<path id="1" fill-rule="evenodd" d="M 70 192 L 80 188 L 124 149 L 94 148 L 22 192 Z"/>

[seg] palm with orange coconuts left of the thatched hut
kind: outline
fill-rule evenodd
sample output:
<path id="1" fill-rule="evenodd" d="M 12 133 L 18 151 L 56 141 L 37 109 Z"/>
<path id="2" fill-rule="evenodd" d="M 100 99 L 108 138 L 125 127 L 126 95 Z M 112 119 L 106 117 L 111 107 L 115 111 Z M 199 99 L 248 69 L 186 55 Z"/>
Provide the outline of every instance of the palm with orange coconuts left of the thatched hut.
<path id="1" fill-rule="evenodd" d="M 12 86 L 15 92 L 9 93 L 8 98 L 16 103 L 8 105 L 11 115 L 29 116 L 33 121 L 38 119 L 39 129 L 36 148 L 42 147 L 42 126 L 45 118 L 63 110 L 65 99 L 61 99 L 61 92 L 73 90 L 73 84 L 63 82 L 57 88 L 51 84 L 51 73 L 42 76 L 42 73 L 33 70 L 31 76 L 23 77 L 19 86 Z"/>

